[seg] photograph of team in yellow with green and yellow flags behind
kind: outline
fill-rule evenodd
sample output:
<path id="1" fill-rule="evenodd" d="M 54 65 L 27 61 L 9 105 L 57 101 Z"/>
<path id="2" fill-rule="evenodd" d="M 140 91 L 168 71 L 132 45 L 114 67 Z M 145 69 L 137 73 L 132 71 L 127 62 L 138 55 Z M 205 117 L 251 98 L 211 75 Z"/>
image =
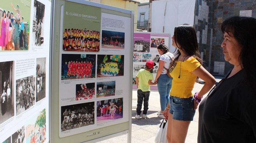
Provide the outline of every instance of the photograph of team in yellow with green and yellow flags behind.
<path id="1" fill-rule="evenodd" d="M 97 78 L 124 75 L 124 55 L 98 55 Z"/>

